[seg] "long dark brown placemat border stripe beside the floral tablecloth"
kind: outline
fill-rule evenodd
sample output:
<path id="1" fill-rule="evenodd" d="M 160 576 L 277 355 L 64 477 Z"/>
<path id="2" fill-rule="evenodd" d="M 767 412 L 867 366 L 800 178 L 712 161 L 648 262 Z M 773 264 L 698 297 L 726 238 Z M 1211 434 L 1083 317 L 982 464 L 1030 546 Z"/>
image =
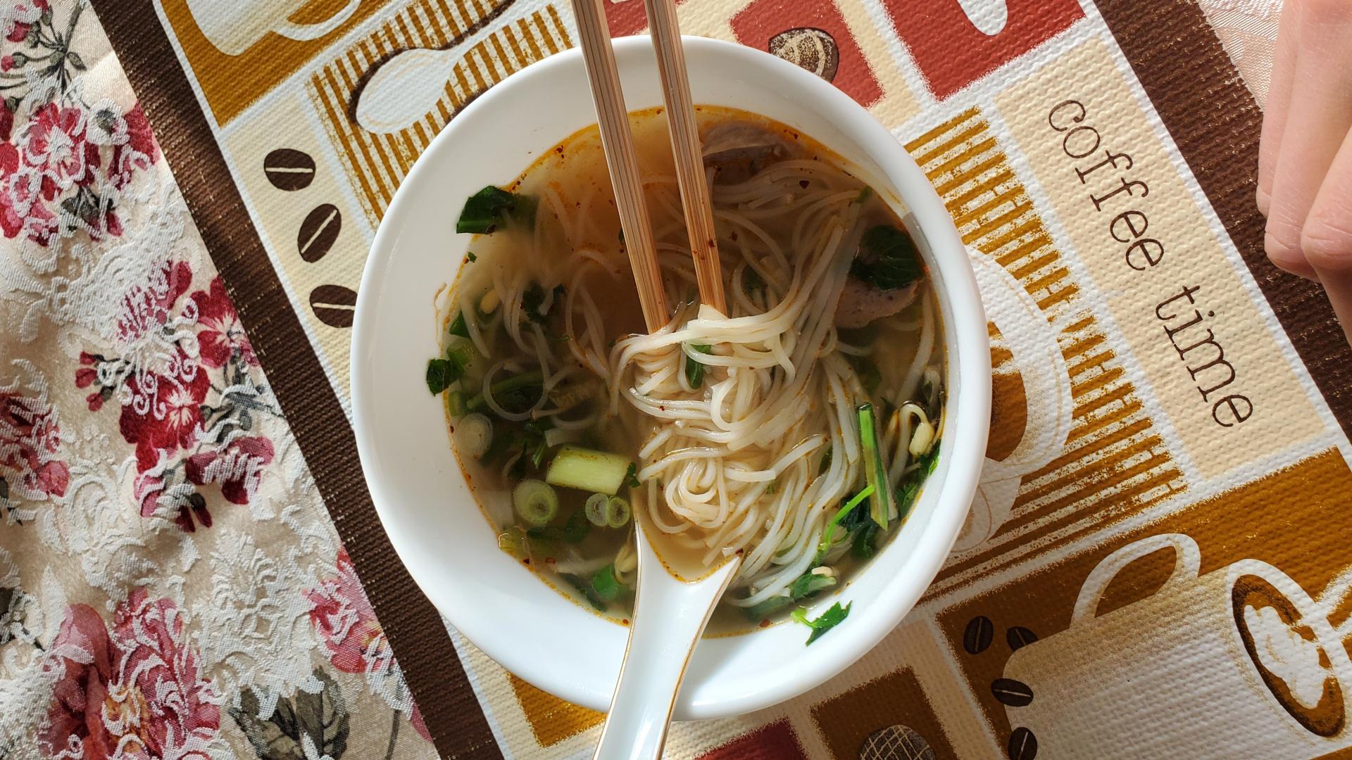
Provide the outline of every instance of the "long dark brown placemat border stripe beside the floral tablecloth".
<path id="1" fill-rule="evenodd" d="M 418 700 L 448 757 L 502 757 L 431 602 L 408 577 L 376 517 L 352 427 L 268 260 L 187 74 L 150 0 L 95 0 L 197 230 L 235 302 Z"/>

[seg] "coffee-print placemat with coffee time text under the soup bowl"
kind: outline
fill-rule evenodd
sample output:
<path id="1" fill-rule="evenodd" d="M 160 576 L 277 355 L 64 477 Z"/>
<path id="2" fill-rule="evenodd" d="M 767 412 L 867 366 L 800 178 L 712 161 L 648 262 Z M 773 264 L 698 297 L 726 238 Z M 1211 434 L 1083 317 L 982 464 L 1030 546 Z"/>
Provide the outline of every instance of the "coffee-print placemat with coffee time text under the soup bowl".
<path id="1" fill-rule="evenodd" d="M 506 672 L 389 561 L 346 427 L 354 288 L 418 153 L 573 45 L 546 0 L 96 0 L 446 756 L 587 757 L 603 715 Z M 911 151 L 991 319 L 994 433 L 934 586 L 859 664 L 672 757 L 1315 757 L 1352 745 L 1352 352 L 1263 257 L 1278 3 L 683 0 Z M 615 34 L 641 3 L 608 5 Z M 443 51 L 415 112 L 370 72 Z M 1242 77 L 1241 77 L 1242 73 Z M 426 74 L 425 74 L 426 76 Z M 379 116 L 379 118 L 377 118 Z M 450 644 L 452 646 L 448 646 Z"/>

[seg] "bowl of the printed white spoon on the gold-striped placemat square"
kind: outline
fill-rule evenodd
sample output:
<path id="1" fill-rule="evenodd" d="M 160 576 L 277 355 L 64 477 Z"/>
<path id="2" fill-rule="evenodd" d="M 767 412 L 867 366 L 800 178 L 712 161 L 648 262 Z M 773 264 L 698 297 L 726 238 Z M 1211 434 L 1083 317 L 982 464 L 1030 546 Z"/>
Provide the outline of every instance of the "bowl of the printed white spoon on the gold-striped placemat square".
<path id="1" fill-rule="evenodd" d="M 419 47 L 385 61 L 361 88 L 357 123 L 372 133 L 397 133 L 437 107 L 460 57 Z"/>

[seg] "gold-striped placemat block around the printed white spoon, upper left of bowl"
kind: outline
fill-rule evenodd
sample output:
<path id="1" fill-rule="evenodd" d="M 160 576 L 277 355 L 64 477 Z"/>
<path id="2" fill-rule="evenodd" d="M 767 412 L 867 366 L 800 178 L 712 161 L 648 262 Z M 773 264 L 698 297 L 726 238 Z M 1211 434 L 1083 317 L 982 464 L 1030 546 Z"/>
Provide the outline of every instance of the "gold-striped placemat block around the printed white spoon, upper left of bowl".
<path id="1" fill-rule="evenodd" d="M 427 143 L 466 103 L 508 74 L 572 46 L 554 5 L 516 19 L 473 45 L 452 69 L 437 107 L 399 133 L 375 134 L 352 118 L 352 96 L 396 50 L 453 47 L 498 19 L 515 0 L 416 0 L 323 65 L 307 82 L 324 130 L 372 224 Z M 470 7 L 472 5 L 472 7 Z"/>

